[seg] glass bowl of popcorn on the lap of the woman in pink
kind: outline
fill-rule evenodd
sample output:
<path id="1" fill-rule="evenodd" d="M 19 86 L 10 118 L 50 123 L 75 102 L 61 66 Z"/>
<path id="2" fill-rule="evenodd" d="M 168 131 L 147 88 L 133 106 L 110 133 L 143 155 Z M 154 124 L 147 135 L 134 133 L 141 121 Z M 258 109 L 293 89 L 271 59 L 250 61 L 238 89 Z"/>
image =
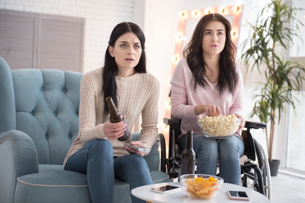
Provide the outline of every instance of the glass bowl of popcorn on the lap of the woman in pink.
<path id="1" fill-rule="evenodd" d="M 203 135 L 208 138 L 228 138 L 234 135 L 242 121 L 234 114 L 227 116 L 202 117 L 197 119 L 197 124 Z"/>

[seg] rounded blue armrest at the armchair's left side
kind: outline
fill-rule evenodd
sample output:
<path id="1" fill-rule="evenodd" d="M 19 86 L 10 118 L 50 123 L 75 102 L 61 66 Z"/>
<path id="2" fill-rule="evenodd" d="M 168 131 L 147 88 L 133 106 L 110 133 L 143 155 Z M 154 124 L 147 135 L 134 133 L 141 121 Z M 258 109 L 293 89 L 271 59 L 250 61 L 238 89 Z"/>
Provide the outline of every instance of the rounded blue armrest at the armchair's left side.
<path id="1" fill-rule="evenodd" d="M 38 172 L 38 154 L 29 135 L 11 130 L 0 134 L 0 191 L 4 202 L 12 202 L 17 178 Z"/>

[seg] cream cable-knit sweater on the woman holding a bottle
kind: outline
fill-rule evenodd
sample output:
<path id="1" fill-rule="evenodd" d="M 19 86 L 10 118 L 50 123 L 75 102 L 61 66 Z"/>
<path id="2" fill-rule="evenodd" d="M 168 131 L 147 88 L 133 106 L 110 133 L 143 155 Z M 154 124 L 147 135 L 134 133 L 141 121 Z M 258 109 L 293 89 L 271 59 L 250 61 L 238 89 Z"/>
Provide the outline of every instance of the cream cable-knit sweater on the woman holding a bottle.
<path id="1" fill-rule="evenodd" d="M 133 125 L 142 113 L 141 137 L 146 148 L 151 149 L 156 142 L 158 129 L 158 99 L 159 81 L 149 73 L 136 73 L 129 77 L 115 77 L 117 85 L 117 109 L 125 115 L 125 122 L 131 132 Z M 109 115 L 103 119 L 104 95 L 102 92 L 102 68 L 86 73 L 80 82 L 79 133 L 72 143 L 64 160 L 92 139 L 107 139 L 103 127 L 109 121 Z M 129 154 L 124 149 L 124 143 L 129 143 L 131 137 L 124 141 L 110 140 L 114 156 Z"/>

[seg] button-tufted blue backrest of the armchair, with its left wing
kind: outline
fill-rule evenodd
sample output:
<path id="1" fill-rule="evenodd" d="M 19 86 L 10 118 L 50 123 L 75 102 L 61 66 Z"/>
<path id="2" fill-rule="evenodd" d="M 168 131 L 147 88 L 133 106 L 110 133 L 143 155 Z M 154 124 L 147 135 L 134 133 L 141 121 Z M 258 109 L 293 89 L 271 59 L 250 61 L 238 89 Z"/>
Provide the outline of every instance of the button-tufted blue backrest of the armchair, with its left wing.
<path id="1" fill-rule="evenodd" d="M 26 133 L 36 145 L 39 164 L 61 165 L 79 129 L 82 75 L 55 69 L 10 71 L 0 58 L 0 133 Z"/>

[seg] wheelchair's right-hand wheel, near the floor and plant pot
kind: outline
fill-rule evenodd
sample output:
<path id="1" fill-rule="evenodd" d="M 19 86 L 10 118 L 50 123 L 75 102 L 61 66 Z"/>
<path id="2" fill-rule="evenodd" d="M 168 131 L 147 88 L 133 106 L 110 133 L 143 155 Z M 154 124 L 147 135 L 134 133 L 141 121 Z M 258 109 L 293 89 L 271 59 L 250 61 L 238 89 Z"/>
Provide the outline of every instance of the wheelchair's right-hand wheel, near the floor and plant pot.
<path id="1" fill-rule="evenodd" d="M 271 199 L 271 175 L 269 162 L 262 146 L 254 140 L 255 161 L 250 160 L 242 168 L 242 185 L 258 191 Z"/>

